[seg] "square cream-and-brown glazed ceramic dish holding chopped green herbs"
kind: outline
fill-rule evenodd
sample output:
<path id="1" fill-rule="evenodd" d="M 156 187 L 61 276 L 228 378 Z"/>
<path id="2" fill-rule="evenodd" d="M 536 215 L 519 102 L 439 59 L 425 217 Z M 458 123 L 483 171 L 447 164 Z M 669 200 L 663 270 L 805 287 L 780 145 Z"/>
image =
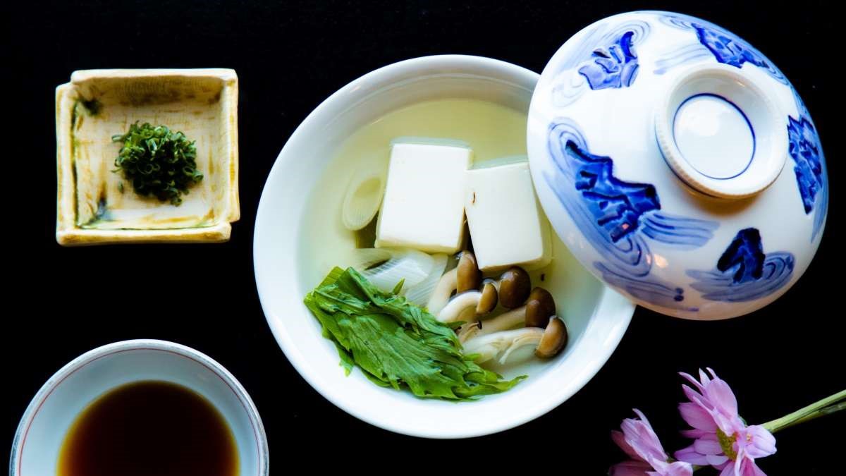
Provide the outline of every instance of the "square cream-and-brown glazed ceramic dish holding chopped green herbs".
<path id="1" fill-rule="evenodd" d="M 203 180 L 174 206 L 139 196 L 114 159 L 129 125 L 196 141 Z M 90 69 L 56 89 L 60 245 L 228 241 L 239 219 L 238 76 L 233 69 Z"/>

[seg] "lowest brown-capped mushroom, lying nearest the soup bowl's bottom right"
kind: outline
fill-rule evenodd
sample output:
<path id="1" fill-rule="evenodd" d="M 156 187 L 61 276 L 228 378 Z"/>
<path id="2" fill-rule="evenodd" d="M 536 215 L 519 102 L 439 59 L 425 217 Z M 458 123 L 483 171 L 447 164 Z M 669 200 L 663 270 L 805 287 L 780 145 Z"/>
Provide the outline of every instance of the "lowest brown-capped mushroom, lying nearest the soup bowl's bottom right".
<path id="1" fill-rule="evenodd" d="M 552 316 L 546 325 L 522 329 L 501 330 L 481 335 L 464 344 L 464 354 L 475 354 L 476 363 L 485 363 L 497 356 L 501 364 L 508 361 L 511 353 L 523 346 L 535 346 L 535 355 L 541 358 L 553 357 L 567 345 L 567 326 L 558 316 Z"/>

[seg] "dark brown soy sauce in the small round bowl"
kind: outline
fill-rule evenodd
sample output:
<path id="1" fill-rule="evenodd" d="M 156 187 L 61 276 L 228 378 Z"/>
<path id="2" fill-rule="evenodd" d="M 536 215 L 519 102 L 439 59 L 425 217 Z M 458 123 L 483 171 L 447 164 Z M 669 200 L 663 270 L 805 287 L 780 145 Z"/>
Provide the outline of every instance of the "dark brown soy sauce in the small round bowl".
<path id="1" fill-rule="evenodd" d="M 65 435 L 58 476 L 237 476 L 232 430 L 203 396 L 146 380 L 83 411 Z"/>

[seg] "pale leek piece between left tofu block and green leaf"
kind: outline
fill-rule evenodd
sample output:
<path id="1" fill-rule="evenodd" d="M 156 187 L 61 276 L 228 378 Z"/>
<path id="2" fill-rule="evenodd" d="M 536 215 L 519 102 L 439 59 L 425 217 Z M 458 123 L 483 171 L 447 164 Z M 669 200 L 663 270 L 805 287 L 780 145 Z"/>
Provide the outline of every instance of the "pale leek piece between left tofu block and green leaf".
<path id="1" fill-rule="evenodd" d="M 425 252 L 407 248 L 365 248 L 355 250 L 353 267 L 382 291 L 393 291 L 400 280 L 405 280 L 403 289 L 420 284 L 431 273 L 434 259 Z M 379 259 L 379 257 L 386 257 Z M 383 263 L 382 263 L 383 262 Z M 374 266 L 376 263 L 381 263 Z"/>

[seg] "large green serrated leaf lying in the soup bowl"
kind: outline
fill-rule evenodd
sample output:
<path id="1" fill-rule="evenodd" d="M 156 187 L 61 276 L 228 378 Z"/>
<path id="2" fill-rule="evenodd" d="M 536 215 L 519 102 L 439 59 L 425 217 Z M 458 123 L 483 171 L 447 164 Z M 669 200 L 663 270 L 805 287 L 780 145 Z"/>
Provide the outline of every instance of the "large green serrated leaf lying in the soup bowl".
<path id="1" fill-rule="evenodd" d="M 481 368 L 462 351 L 454 331 L 460 323 L 438 322 L 403 296 L 377 289 L 354 268 L 332 269 L 305 296 L 305 305 L 338 346 L 347 373 L 355 363 L 377 385 L 468 400 L 503 392 L 525 378 L 503 380 Z"/>

